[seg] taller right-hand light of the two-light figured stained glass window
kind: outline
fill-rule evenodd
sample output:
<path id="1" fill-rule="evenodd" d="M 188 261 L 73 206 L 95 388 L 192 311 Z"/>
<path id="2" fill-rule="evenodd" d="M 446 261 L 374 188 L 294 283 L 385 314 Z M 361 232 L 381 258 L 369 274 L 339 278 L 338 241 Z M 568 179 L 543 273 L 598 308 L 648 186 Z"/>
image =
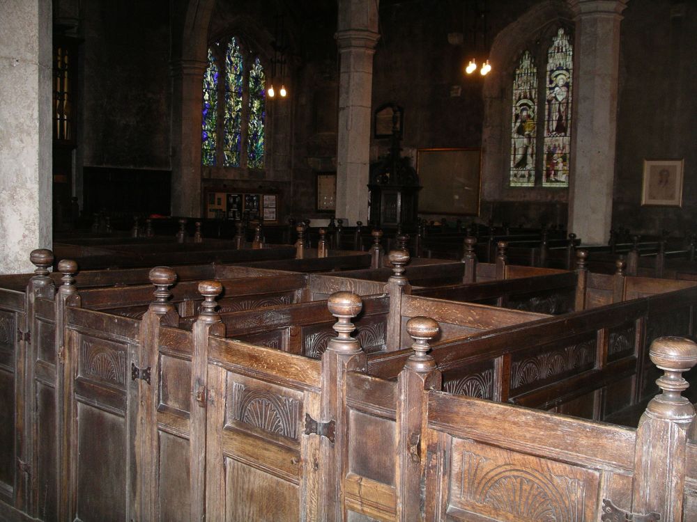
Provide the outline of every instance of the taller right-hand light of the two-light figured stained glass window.
<path id="1" fill-rule="evenodd" d="M 573 63 L 569 35 L 559 29 L 547 52 L 543 187 L 569 186 Z"/>

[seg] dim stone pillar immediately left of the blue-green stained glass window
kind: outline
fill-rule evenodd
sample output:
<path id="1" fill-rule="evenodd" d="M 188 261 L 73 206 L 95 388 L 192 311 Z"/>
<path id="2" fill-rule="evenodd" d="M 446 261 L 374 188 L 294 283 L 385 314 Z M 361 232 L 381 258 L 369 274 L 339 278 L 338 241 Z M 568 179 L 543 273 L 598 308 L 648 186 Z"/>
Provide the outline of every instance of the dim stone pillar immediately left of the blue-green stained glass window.
<path id="1" fill-rule="evenodd" d="M 206 62 L 178 60 L 172 77 L 173 216 L 201 216 L 201 86 Z"/>

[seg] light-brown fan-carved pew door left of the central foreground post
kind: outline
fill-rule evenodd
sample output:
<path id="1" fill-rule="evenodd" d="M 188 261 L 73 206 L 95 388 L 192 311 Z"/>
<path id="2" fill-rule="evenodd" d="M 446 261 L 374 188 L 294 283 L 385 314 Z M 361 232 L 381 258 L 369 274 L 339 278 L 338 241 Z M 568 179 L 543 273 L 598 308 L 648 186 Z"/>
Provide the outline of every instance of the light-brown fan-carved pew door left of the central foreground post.
<path id="1" fill-rule="evenodd" d="M 206 518 L 319 519 L 321 363 L 210 336 L 206 418 Z"/>

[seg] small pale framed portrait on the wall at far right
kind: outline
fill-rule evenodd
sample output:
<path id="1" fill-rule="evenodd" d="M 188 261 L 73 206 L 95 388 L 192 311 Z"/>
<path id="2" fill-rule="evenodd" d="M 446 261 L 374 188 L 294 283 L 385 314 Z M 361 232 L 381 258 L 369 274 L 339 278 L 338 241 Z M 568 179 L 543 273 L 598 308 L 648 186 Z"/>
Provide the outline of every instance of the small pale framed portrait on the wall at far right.
<path id="1" fill-rule="evenodd" d="M 683 159 L 645 159 L 641 205 L 682 207 Z"/>

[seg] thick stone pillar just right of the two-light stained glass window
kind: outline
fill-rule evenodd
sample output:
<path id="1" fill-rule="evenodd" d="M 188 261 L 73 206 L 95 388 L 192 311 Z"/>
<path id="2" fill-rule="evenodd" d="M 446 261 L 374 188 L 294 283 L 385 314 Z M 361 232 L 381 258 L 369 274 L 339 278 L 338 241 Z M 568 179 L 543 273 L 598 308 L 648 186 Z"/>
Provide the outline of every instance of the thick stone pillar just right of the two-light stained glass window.
<path id="1" fill-rule="evenodd" d="M 606 244 L 612 219 L 620 22 L 629 0 L 568 0 L 576 13 L 569 230 Z"/>

